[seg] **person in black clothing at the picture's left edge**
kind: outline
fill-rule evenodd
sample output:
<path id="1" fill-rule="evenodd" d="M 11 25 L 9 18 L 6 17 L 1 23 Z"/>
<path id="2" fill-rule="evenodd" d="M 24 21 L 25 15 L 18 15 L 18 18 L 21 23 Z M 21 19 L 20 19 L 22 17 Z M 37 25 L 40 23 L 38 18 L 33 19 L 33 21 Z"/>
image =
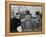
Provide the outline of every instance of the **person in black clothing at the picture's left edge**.
<path id="1" fill-rule="evenodd" d="M 10 32 L 18 32 L 17 27 L 21 25 L 21 21 L 18 18 L 15 18 L 14 10 L 11 12 L 10 18 Z"/>

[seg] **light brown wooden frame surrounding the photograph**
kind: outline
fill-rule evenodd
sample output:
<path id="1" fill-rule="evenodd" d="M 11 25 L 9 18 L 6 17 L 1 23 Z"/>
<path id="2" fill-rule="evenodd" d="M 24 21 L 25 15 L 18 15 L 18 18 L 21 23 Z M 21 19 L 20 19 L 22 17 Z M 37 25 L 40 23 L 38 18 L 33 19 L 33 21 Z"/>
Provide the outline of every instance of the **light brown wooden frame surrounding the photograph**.
<path id="1" fill-rule="evenodd" d="M 42 31 L 41 32 L 10 32 L 10 8 L 11 4 L 13 5 L 24 5 L 24 6 L 40 6 L 42 12 Z M 5 1 L 5 35 L 6 36 L 15 36 L 15 35 L 34 35 L 34 34 L 44 34 L 45 33 L 45 3 L 37 2 L 20 2 L 20 1 Z"/>

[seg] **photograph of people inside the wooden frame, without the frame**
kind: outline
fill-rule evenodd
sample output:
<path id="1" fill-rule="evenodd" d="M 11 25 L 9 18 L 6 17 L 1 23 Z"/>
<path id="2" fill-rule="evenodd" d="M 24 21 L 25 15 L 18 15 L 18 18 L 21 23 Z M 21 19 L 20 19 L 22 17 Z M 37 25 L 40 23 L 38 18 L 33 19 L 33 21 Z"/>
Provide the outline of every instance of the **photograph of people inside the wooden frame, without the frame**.
<path id="1" fill-rule="evenodd" d="M 41 7 L 11 4 L 10 32 L 42 32 Z"/>

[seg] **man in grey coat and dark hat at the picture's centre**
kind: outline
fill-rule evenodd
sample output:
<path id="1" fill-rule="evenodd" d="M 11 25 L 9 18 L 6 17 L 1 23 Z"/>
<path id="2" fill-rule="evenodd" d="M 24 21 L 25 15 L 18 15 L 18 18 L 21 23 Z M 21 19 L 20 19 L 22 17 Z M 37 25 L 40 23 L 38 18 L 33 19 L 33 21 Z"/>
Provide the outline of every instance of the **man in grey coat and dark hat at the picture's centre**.
<path id="1" fill-rule="evenodd" d="M 31 14 L 29 10 L 26 10 L 25 18 L 21 20 L 21 27 L 23 32 L 32 31 Z"/>

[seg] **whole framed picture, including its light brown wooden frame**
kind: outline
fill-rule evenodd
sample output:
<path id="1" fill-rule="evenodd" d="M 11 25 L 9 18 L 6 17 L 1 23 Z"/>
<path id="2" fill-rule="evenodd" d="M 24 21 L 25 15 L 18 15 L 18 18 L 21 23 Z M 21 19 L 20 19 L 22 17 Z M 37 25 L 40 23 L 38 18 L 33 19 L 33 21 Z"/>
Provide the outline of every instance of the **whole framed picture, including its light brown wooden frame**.
<path id="1" fill-rule="evenodd" d="M 6 35 L 45 33 L 45 4 L 36 2 L 6 1 Z"/>

